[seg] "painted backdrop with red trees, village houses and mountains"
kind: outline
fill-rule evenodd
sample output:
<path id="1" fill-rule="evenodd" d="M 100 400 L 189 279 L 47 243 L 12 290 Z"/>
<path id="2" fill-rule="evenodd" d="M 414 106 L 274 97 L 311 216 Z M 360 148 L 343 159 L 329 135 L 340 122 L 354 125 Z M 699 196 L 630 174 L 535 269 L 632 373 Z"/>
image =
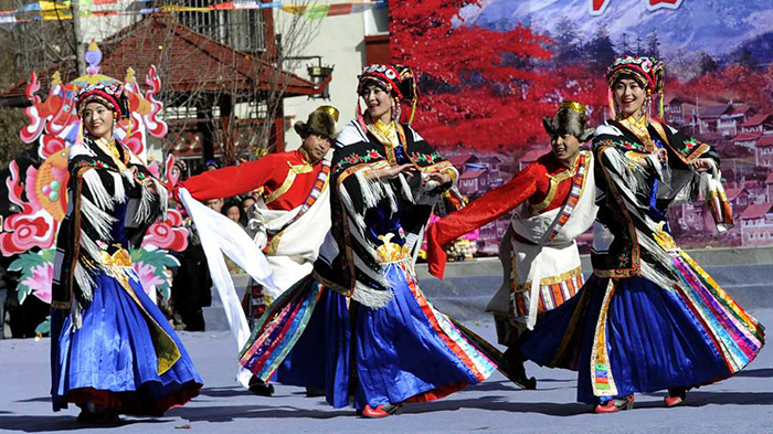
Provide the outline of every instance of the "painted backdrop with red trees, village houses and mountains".
<path id="1" fill-rule="evenodd" d="M 770 0 L 400 0 L 390 17 L 393 61 L 420 74 L 414 125 L 470 199 L 547 151 L 541 118 L 562 99 L 601 123 L 613 57 L 656 55 L 665 118 L 719 149 L 735 219 L 720 236 L 702 203 L 676 205 L 675 234 L 685 246 L 773 244 Z M 478 250 L 495 253 L 507 222 L 484 227 Z"/>

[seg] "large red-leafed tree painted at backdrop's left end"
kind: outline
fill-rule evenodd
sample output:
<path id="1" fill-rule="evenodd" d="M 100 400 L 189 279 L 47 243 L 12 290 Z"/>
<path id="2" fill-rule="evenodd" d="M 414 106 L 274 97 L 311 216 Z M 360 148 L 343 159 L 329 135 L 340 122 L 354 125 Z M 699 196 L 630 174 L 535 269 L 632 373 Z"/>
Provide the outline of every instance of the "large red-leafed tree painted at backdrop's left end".
<path id="1" fill-rule="evenodd" d="M 517 27 L 468 27 L 459 9 L 476 0 L 390 1 L 391 54 L 417 75 L 416 129 L 434 145 L 498 150 L 542 139 L 542 116 L 555 110 L 563 82 L 540 63 L 548 38 Z M 404 110 L 405 112 L 405 110 Z"/>

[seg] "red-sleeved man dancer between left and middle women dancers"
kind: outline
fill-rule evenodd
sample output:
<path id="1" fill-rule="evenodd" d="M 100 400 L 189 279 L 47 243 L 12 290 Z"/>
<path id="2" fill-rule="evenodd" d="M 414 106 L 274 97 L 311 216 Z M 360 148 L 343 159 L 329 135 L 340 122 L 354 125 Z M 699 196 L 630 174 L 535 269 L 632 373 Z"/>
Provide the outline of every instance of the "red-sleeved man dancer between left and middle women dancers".
<path id="1" fill-rule="evenodd" d="M 247 286 L 243 305 L 251 327 L 265 311 L 264 297 L 275 299 L 311 273 L 319 246 L 330 229 L 330 161 L 325 156 L 336 140 L 337 120 L 335 107 L 321 106 L 306 123 L 295 125 L 304 140 L 299 149 L 207 171 L 178 186 L 188 189 L 199 201 L 260 189 L 261 197 L 248 212 L 247 229 L 266 253 L 276 289 L 266 289 L 264 294 L 261 285 L 251 282 Z M 250 390 L 271 395 L 274 388 L 253 377 Z"/>

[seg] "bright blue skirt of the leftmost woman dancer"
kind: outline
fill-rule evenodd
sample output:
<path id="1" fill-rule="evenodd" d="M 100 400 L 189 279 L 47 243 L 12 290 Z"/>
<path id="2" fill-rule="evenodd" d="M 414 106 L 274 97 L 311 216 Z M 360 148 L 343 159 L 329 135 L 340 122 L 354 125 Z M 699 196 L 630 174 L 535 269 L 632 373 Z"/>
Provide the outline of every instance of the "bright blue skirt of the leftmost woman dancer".
<path id="1" fill-rule="evenodd" d="M 95 277 L 81 328 L 73 328 L 67 311 L 52 310 L 54 411 L 95 403 L 121 414 L 161 415 L 199 394 L 202 381 L 182 342 L 134 271 L 126 273 L 131 294 L 108 275 Z M 167 348 L 177 347 L 179 358 L 159 373 L 153 336 L 165 334 Z"/>

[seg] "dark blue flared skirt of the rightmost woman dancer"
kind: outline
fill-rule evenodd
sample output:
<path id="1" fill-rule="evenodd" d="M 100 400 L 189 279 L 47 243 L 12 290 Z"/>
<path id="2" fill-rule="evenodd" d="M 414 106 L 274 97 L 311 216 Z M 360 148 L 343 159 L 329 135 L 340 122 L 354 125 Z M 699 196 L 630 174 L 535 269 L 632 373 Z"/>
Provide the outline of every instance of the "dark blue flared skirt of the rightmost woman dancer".
<path id="1" fill-rule="evenodd" d="M 686 296 L 690 288 L 668 290 L 629 277 L 605 297 L 608 284 L 591 277 L 576 296 L 546 313 L 521 347 L 538 364 L 578 370 L 580 402 L 711 383 L 740 370 L 761 348 L 758 341 L 733 364 L 726 351 L 743 345 L 748 331 L 700 315 L 701 303 Z"/>

